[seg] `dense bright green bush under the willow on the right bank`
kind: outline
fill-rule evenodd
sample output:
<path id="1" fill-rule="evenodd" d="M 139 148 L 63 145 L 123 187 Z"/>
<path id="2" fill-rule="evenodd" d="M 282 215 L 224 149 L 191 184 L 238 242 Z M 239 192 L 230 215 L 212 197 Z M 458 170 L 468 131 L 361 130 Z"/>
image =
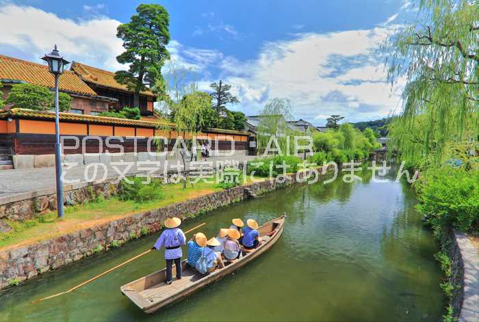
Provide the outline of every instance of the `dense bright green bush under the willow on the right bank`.
<path id="1" fill-rule="evenodd" d="M 428 215 L 437 235 L 450 228 L 479 230 L 479 170 L 448 165 L 430 170 L 422 178 L 418 209 Z"/>

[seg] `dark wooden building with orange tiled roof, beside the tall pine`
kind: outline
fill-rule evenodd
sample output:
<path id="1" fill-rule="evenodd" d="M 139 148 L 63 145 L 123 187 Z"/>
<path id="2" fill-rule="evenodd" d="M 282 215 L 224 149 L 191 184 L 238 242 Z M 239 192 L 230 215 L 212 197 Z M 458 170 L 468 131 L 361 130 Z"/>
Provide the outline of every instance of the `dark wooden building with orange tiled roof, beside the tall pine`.
<path id="1" fill-rule="evenodd" d="M 88 84 L 96 94 L 116 98 L 116 102 L 110 104 L 117 110 L 123 107 L 135 107 L 133 102 L 133 91 L 115 80 L 115 73 L 102 70 L 96 67 L 73 62 L 71 70 L 75 72 L 82 81 Z M 140 111 L 142 116 L 153 116 L 153 103 L 157 95 L 151 91 L 140 92 Z"/>

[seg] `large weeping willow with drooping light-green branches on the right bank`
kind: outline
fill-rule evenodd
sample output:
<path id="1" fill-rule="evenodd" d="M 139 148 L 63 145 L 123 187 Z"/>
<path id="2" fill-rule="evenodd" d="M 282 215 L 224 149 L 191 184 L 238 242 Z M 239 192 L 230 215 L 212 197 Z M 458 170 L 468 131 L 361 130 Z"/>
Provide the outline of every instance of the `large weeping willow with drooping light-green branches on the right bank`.
<path id="1" fill-rule="evenodd" d="M 448 142 L 478 133 L 479 2 L 422 0 L 417 18 L 383 46 L 389 81 L 406 81 L 389 137 L 437 163 Z"/>

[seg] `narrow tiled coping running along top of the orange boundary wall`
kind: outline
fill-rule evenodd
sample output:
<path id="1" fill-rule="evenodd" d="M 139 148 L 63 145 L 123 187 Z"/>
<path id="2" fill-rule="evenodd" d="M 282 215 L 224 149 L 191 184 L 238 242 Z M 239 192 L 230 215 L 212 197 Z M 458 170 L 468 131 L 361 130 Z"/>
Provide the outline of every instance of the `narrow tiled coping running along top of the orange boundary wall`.
<path id="1" fill-rule="evenodd" d="M 8 118 L 9 116 L 26 116 L 29 118 L 38 119 L 55 119 L 55 112 L 53 111 L 34 111 L 33 109 L 10 109 L 4 111 L 0 109 L 0 118 Z M 130 125 L 130 126 L 142 126 L 156 128 L 159 126 L 159 122 L 149 122 L 142 120 L 129 120 L 127 118 L 107 118 L 105 116 L 93 116 L 86 114 L 75 113 L 60 113 L 60 120 L 81 121 L 88 122 L 90 124 L 118 124 L 118 125 Z M 173 126 L 172 123 L 164 123 L 164 125 Z"/>

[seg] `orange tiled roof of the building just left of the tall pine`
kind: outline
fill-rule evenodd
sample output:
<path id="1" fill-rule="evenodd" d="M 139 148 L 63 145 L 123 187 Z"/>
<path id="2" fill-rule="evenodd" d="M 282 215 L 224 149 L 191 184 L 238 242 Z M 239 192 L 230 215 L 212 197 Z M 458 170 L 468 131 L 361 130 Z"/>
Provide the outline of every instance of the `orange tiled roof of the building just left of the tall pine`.
<path id="1" fill-rule="evenodd" d="M 77 75 L 83 79 L 83 81 L 94 83 L 105 88 L 115 88 L 117 90 L 133 93 L 133 91 L 127 88 L 127 85 L 122 85 L 115 80 L 114 72 L 109 72 L 107 70 L 81 64 L 79 62 L 73 62 L 71 69 L 75 71 Z M 140 94 L 156 96 L 156 94 L 153 94 L 153 92 L 150 91 L 142 91 Z"/>

